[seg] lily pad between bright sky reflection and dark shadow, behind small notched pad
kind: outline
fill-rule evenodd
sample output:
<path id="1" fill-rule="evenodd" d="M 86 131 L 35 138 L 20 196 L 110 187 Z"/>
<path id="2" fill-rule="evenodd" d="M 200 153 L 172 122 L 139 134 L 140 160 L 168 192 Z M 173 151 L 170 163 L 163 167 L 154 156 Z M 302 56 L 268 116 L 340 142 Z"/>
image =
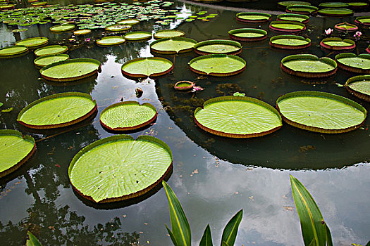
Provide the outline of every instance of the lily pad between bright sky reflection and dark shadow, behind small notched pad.
<path id="1" fill-rule="evenodd" d="M 170 60 L 159 57 L 136 58 L 122 65 L 123 75 L 128 77 L 158 77 L 173 69 Z"/>

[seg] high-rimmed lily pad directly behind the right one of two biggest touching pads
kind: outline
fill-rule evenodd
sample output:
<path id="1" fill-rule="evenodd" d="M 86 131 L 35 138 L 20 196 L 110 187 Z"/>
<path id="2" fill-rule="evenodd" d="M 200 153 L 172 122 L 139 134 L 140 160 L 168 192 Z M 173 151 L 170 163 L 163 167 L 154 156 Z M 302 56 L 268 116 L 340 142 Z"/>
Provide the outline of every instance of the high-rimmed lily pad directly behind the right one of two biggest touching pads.
<path id="1" fill-rule="evenodd" d="M 281 69 L 290 75 L 320 78 L 334 75 L 337 63 L 331 58 L 318 58 L 311 54 L 292 55 L 281 60 Z"/>

